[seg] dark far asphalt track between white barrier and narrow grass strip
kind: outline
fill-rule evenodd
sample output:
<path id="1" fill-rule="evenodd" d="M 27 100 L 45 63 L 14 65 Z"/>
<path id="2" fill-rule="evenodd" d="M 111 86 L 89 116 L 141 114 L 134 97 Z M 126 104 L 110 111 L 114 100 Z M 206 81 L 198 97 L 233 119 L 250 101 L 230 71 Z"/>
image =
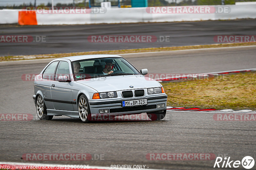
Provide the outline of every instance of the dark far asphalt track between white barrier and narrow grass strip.
<path id="1" fill-rule="evenodd" d="M 0 56 L 215 44 L 216 35 L 255 35 L 256 19 L 174 23 L 0 26 L 0 35 L 45 36 L 45 42 L 0 43 Z M 91 35 L 151 35 L 158 42 L 95 43 Z M 163 42 L 160 36 L 169 36 Z"/>

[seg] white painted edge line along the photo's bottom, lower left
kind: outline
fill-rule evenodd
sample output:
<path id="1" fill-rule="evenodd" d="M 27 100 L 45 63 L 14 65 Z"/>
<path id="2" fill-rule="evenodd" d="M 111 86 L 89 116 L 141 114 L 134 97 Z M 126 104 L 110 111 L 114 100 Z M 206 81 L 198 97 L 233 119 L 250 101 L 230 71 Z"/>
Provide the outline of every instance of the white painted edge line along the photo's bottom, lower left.
<path id="1" fill-rule="evenodd" d="M 20 163 L 20 162 L 0 162 L 0 165 L 54 166 L 54 167 L 63 166 L 63 165 L 60 165 L 60 164 Z M 117 165 L 117 164 L 113 164 L 113 165 Z M 134 168 L 110 168 L 110 167 L 107 167 L 107 166 L 90 166 L 89 165 L 89 169 L 87 169 L 87 170 L 90 170 L 90 169 L 101 169 L 101 170 L 105 170 L 105 169 L 106 170 L 116 170 L 116 169 L 118 169 L 118 170 L 139 170 L 139 169 L 134 169 Z M 146 166 L 145 166 L 145 169 L 146 170 L 161 170 L 161 169 L 148 169 Z"/>

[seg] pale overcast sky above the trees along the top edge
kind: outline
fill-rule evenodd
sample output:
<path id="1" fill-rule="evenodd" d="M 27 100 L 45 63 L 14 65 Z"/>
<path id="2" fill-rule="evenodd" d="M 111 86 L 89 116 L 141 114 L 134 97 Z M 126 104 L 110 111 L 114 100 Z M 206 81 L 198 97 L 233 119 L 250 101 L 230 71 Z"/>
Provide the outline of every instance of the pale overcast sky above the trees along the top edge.
<path id="1" fill-rule="evenodd" d="M 89 1 L 89 0 L 86 0 Z M 175 1 L 175 0 L 167 0 L 169 2 Z M 177 0 L 177 2 L 180 2 L 182 0 Z M 29 2 L 31 2 L 32 4 L 34 4 L 35 0 L 0 0 L 0 5 L 1 6 L 6 6 L 6 5 L 20 5 L 23 3 L 29 4 Z M 36 0 L 36 5 L 39 4 L 47 4 L 48 2 L 52 3 L 52 0 Z M 83 0 L 75 0 L 75 2 L 83 2 Z M 73 0 L 53 0 L 53 4 L 57 4 L 57 3 L 62 3 L 62 4 L 69 4 L 69 3 L 73 3 Z"/>

